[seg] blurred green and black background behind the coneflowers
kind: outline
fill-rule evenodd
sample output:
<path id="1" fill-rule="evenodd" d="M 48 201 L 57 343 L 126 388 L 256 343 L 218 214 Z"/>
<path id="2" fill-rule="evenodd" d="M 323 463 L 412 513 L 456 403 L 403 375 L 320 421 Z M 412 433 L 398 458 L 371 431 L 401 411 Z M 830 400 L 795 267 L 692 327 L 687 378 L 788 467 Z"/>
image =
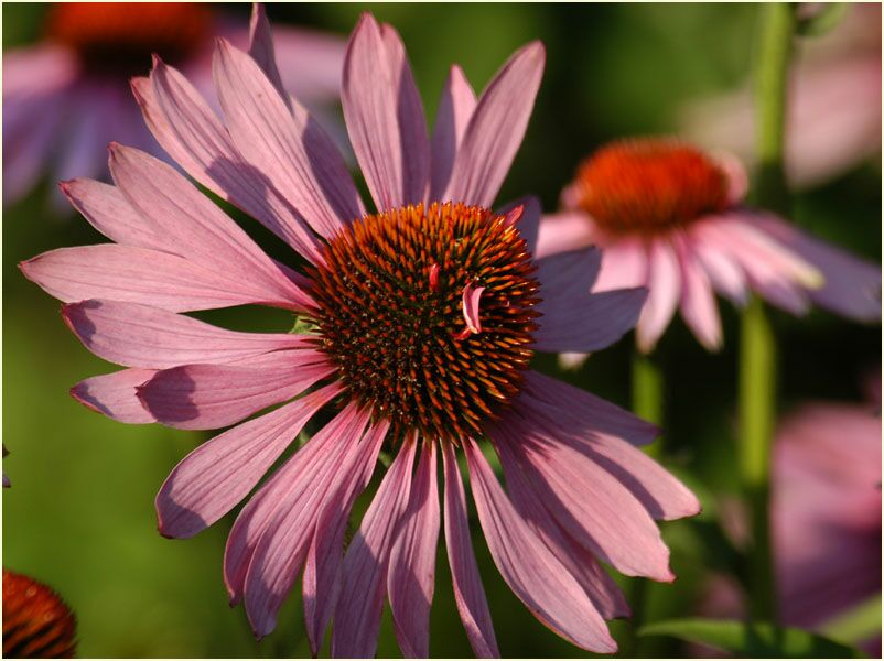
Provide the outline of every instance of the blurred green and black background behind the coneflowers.
<path id="1" fill-rule="evenodd" d="M 430 117 L 451 63 L 481 89 L 519 45 L 540 39 L 548 52 L 537 109 L 500 199 L 539 195 L 553 209 L 579 161 L 604 141 L 676 132 L 691 98 L 739 87 L 750 75 L 758 8 L 753 4 L 272 4 L 272 21 L 345 35 L 371 11 L 402 34 Z M 45 7 L 4 3 L 3 47 L 39 36 Z M 249 8 L 218 7 L 248 20 Z M 798 52 L 800 56 L 800 50 Z M 147 66 L 145 66 L 147 68 Z M 3 566 L 58 590 L 79 620 L 84 657 L 306 655 L 300 599 L 279 629 L 257 643 L 241 608 L 229 609 L 222 556 L 234 517 L 188 541 L 155 530 L 153 497 L 169 470 L 208 434 L 129 426 L 77 404 L 71 386 L 109 366 L 86 351 L 58 316 L 58 303 L 28 282 L 17 264 L 44 250 L 103 240 L 73 209 L 47 203 L 44 182 L 3 218 Z M 881 170 L 858 166 L 796 198 L 794 219 L 872 261 L 881 260 Z M 673 585 L 651 589 L 650 619 L 688 615 L 708 572 L 726 553 L 702 543 L 718 499 L 735 491 L 736 314 L 721 304 L 725 346 L 707 354 L 676 321 L 660 345 L 667 383 L 669 465 L 704 503 L 699 521 L 665 524 Z M 236 310 L 229 325 L 278 329 L 290 319 Z M 780 408 L 809 399 L 860 400 L 860 378 L 881 362 L 881 330 L 822 312 L 795 319 L 774 312 L 780 346 Z M 630 338 L 561 372 L 538 367 L 614 402 L 629 402 Z M 474 530 L 478 530 L 477 521 Z M 475 546 L 504 655 L 580 657 L 540 625 L 494 567 L 481 535 Z M 431 654 L 470 657 L 454 608 L 444 550 L 438 563 Z M 300 588 L 295 589 L 300 594 Z M 624 627 L 614 625 L 618 636 Z M 677 654 L 658 640 L 649 654 Z M 381 657 L 399 655 L 385 615 Z"/>

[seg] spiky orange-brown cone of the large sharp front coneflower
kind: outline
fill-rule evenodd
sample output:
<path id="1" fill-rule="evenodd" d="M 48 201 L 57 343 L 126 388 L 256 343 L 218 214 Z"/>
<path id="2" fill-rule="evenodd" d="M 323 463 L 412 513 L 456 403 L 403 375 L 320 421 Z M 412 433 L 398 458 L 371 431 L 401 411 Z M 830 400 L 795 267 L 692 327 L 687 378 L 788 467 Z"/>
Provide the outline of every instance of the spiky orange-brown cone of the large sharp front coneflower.
<path id="1" fill-rule="evenodd" d="M 407 206 L 351 224 L 324 258 L 311 272 L 320 347 L 399 434 L 457 442 L 518 393 L 540 299 L 510 218 Z"/>

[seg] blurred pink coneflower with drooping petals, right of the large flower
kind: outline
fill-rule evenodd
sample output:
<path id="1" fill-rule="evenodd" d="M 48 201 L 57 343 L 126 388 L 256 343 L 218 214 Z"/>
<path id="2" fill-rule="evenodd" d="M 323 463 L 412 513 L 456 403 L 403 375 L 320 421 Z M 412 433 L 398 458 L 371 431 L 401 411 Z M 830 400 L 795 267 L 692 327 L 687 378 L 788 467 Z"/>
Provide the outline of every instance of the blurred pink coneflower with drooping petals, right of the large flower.
<path id="1" fill-rule="evenodd" d="M 718 349 L 715 291 L 743 304 L 754 290 L 793 314 L 812 301 L 852 319 L 881 318 L 881 267 L 744 207 L 745 193 L 732 156 L 666 138 L 613 142 L 581 164 L 563 210 L 543 217 L 538 254 L 596 245 L 604 256 L 595 291 L 646 285 L 643 351 L 677 307 L 703 346 Z"/>

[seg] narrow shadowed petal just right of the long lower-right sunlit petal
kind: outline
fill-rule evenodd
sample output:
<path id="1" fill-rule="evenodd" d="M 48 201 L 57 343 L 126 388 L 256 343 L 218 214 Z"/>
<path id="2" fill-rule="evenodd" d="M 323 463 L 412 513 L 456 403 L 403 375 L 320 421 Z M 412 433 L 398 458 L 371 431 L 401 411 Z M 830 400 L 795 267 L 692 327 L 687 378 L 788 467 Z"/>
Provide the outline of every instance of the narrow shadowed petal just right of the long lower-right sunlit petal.
<path id="1" fill-rule="evenodd" d="M 510 500 L 519 516 L 580 584 L 603 618 L 627 617 L 629 607 L 617 584 L 592 553 L 564 532 L 551 512 L 535 498 L 533 489 L 509 449 L 511 443 L 518 443 L 518 438 L 506 434 L 502 427 L 492 440 L 504 466 Z"/>

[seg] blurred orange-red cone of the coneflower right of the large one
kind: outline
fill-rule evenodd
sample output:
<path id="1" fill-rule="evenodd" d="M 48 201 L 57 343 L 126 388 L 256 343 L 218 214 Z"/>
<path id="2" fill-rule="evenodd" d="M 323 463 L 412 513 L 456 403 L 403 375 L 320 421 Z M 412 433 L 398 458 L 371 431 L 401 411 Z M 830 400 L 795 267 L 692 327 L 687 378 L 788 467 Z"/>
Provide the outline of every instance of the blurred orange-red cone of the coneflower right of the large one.
<path id="1" fill-rule="evenodd" d="M 615 234 L 667 231 L 730 204 L 718 163 L 668 138 L 603 147 L 580 165 L 575 192 L 578 204 Z"/>

